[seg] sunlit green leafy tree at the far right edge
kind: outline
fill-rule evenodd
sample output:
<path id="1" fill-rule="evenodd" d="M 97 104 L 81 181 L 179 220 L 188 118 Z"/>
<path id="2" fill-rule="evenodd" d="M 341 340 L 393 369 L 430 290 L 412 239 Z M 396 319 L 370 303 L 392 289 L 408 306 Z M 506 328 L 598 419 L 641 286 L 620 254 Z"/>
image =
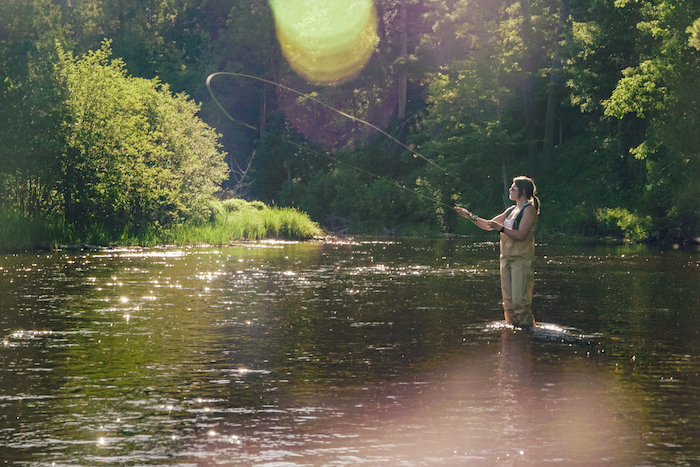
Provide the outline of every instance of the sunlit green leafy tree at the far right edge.
<path id="1" fill-rule="evenodd" d="M 655 47 L 623 70 L 605 113 L 644 122 L 630 152 L 646 164 L 646 207 L 663 219 L 658 235 L 690 238 L 700 231 L 700 56 L 693 42 L 700 2 L 640 3 L 637 28 Z"/>

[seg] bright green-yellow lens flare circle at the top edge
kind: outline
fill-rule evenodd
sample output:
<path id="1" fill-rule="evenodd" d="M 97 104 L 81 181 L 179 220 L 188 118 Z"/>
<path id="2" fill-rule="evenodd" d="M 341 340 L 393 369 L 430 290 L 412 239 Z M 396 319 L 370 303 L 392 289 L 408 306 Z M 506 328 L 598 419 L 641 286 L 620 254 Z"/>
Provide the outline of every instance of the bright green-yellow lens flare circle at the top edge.
<path id="1" fill-rule="evenodd" d="M 270 0 L 270 6 L 284 56 L 314 84 L 357 76 L 379 43 L 372 0 Z"/>

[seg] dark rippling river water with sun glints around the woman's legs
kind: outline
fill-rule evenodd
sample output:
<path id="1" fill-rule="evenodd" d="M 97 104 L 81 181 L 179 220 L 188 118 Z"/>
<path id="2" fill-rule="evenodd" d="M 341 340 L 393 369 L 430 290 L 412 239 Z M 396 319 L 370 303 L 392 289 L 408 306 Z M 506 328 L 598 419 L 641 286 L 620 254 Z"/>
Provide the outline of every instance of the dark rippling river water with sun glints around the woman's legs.
<path id="1" fill-rule="evenodd" d="M 5 465 L 695 465 L 700 251 L 258 243 L 0 257 Z"/>

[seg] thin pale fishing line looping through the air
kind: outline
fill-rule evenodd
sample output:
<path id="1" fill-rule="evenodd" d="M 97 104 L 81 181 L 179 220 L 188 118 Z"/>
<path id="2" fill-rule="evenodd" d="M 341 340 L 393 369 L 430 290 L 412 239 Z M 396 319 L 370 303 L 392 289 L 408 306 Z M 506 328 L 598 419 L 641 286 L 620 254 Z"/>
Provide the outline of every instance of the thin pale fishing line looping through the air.
<path id="1" fill-rule="evenodd" d="M 372 123 L 369 123 L 369 122 L 367 122 L 367 121 L 365 121 L 365 120 L 362 120 L 361 118 L 355 117 L 354 115 L 351 115 L 351 114 L 348 114 L 348 113 L 346 113 L 346 112 L 343 112 L 342 110 L 336 109 L 336 108 L 334 108 L 334 107 L 332 107 L 332 106 L 326 104 L 325 102 L 320 101 L 320 100 L 314 98 L 313 96 L 310 96 L 310 95 L 308 95 L 308 94 L 304 94 L 304 93 L 302 93 L 302 92 L 300 92 L 300 91 L 297 91 L 296 89 L 292 89 L 292 88 L 290 88 L 290 87 L 288 87 L 288 86 L 285 86 L 285 85 L 280 84 L 280 83 L 276 83 L 276 82 L 274 82 L 274 81 L 267 80 L 267 79 L 265 79 L 265 78 L 260 78 L 260 77 L 253 76 L 253 75 L 247 75 L 247 74 L 244 74 L 244 73 L 234 73 L 234 72 L 228 72 L 228 71 L 220 71 L 220 72 L 217 72 L 217 73 L 212 73 L 212 74 L 210 74 L 210 75 L 207 77 L 207 80 L 206 80 L 206 85 L 207 85 L 207 90 L 209 91 L 209 95 L 210 95 L 211 98 L 214 100 L 214 102 L 215 102 L 216 105 L 219 107 L 219 109 L 221 109 L 221 111 L 224 113 L 224 115 L 226 115 L 232 122 L 238 123 L 239 125 L 243 125 L 244 127 L 249 128 L 249 129 L 251 129 L 251 130 L 254 130 L 254 131 L 256 131 L 256 132 L 260 131 L 259 128 L 255 127 L 255 126 L 253 126 L 253 125 L 250 125 L 250 124 L 248 124 L 248 123 L 245 123 L 245 122 L 242 122 L 242 121 L 240 121 L 240 120 L 238 120 L 238 119 L 233 118 L 233 117 L 226 111 L 226 109 L 225 109 L 224 106 L 221 104 L 221 102 L 219 102 L 219 100 L 216 98 L 216 96 L 214 95 L 214 92 L 213 92 L 212 89 L 211 89 L 211 80 L 212 80 L 212 78 L 214 78 L 215 76 L 218 76 L 218 75 L 239 76 L 239 77 L 242 77 L 242 78 L 253 79 L 253 80 L 261 81 L 261 82 L 263 82 L 263 83 L 271 84 L 271 85 L 273 85 L 273 86 L 277 86 L 277 87 L 279 87 L 279 88 L 281 88 L 281 89 L 284 89 L 284 90 L 286 90 L 286 91 L 293 92 L 293 93 L 295 93 L 295 94 L 297 94 L 297 95 L 299 95 L 299 96 L 301 96 L 301 97 L 303 97 L 303 98 L 305 98 L 305 99 L 309 99 L 309 100 L 311 100 L 311 101 L 314 101 L 314 102 L 316 102 L 316 103 L 319 104 L 319 105 L 322 105 L 322 106 L 324 106 L 324 107 L 326 107 L 326 108 L 328 108 L 328 109 L 330 109 L 330 110 L 333 110 L 334 112 L 339 113 L 340 115 L 342 115 L 342 116 L 344 116 L 344 117 L 346 117 L 346 118 L 349 118 L 350 120 L 353 120 L 353 121 L 362 123 L 362 124 L 364 124 L 364 125 L 367 125 L 367 126 L 369 126 L 370 128 L 376 130 L 377 132 L 383 134 L 383 135 L 386 136 L 387 138 L 391 139 L 392 141 L 394 141 L 396 144 L 398 144 L 398 145 L 401 146 L 402 148 L 404 148 L 404 149 L 410 151 L 415 157 L 420 157 L 421 159 L 423 159 L 423 160 L 426 161 L 427 163 L 429 163 L 429 164 L 433 165 L 434 167 L 440 169 L 440 171 L 443 172 L 445 175 L 448 175 L 448 176 L 453 177 L 453 178 L 454 178 L 455 180 L 457 180 L 459 183 L 463 184 L 464 186 L 466 186 L 467 188 L 469 188 L 470 190 L 472 190 L 474 193 L 477 193 L 479 196 L 481 196 L 482 198 L 486 199 L 486 197 L 485 197 L 481 192 L 479 192 L 479 191 L 477 191 L 476 189 L 472 188 L 469 184 L 465 183 L 465 182 L 464 182 L 463 180 L 461 180 L 459 177 L 457 177 L 456 175 L 454 175 L 454 174 L 448 172 L 447 169 L 445 169 L 445 168 L 439 166 L 439 165 L 436 164 L 434 161 L 432 161 L 432 160 L 428 159 L 427 157 L 423 156 L 422 154 L 418 153 L 417 151 L 415 151 L 415 150 L 412 149 L 411 147 L 406 146 L 406 145 L 403 144 L 401 141 L 399 141 L 398 139 L 394 138 L 394 137 L 391 136 L 389 133 L 387 133 L 386 131 L 384 131 L 384 130 L 382 130 L 381 128 L 377 127 L 376 125 L 373 125 Z M 266 132 L 264 132 L 264 133 L 266 133 Z M 266 133 L 266 134 L 269 134 L 269 133 Z M 332 159 L 332 160 L 334 160 L 335 162 L 348 165 L 348 166 L 354 168 L 355 170 L 358 170 L 358 171 L 360 171 L 360 172 L 363 172 L 363 173 L 365 173 L 365 174 L 367 174 L 367 175 L 370 175 L 370 176 L 372 176 L 372 177 L 375 177 L 375 178 L 377 178 L 377 179 L 382 179 L 382 178 L 383 178 L 383 177 L 380 177 L 379 175 L 376 175 L 376 174 L 373 174 L 373 173 L 368 172 L 368 171 L 366 171 L 366 170 L 363 170 L 363 169 L 361 169 L 361 168 L 359 168 L 359 167 L 357 167 L 357 166 L 355 166 L 355 165 L 349 164 L 349 163 L 347 163 L 347 162 L 340 161 L 340 160 L 338 160 L 337 158 L 334 158 L 334 157 L 332 157 L 332 156 L 330 156 L 330 155 L 328 155 L 328 154 L 319 153 L 319 152 L 317 152 L 317 151 L 312 150 L 311 148 L 301 146 L 301 145 L 296 144 L 296 143 L 291 142 L 291 141 L 285 141 L 285 142 L 287 142 L 287 143 L 289 143 L 289 144 L 292 144 L 292 145 L 294 145 L 294 146 L 297 146 L 297 147 L 300 148 L 300 149 L 303 149 L 303 150 L 306 150 L 306 151 L 309 151 L 309 152 L 312 152 L 312 153 L 315 153 L 315 154 L 323 155 L 324 157 L 328 157 L 329 159 Z M 434 202 L 434 203 L 439 203 L 439 204 L 441 204 L 441 205 L 443 205 L 443 206 L 446 206 L 446 207 L 448 207 L 448 208 L 450 208 L 450 209 L 453 208 L 453 206 L 451 206 L 451 205 L 448 205 L 448 204 L 443 203 L 443 202 L 441 202 L 441 201 L 438 201 L 438 200 L 435 200 L 435 199 L 433 199 L 433 198 L 430 198 L 430 197 L 428 197 L 427 195 L 424 195 L 424 194 L 422 194 L 422 193 L 420 193 L 420 192 L 418 192 L 418 191 L 412 191 L 412 190 L 406 188 L 404 185 L 401 185 L 400 183 L 398 183 L 398 182 L 395 181 L 395 180 L 391 180 L 391 181 L 394 182 L 394 183 L 396 184 L 396 186 L 398 186 L 398 187 L 400 187 L 400 188 L 403 188 L 404 190 L 407 190 L 407 191 L 409 191 L 409 192 L 411 192 L 411 193 L 414 193 L 414 194 L 417 194 L 417 195 L 419 195 L 419 196 L 422 196 L 423 198 L 429 199 L 429 200 L 431 200 L 431 201 Z"/>

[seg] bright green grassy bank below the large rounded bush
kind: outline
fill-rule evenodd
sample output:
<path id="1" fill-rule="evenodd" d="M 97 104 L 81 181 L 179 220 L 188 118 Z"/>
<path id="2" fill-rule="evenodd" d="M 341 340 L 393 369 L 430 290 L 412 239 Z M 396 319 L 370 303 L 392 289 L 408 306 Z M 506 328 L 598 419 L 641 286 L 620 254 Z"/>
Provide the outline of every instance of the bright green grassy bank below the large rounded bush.
<path id="1" fill-rule="evenodd" d="M 323 235 L 309 217 L 291 208 L 269 207 L 240 199 L 216 201 L 198 220 L 141 233 L 113 232 L 92 226 L 78 234 L 59 216 L 26 217 L 0 210 L 0 250 L 5 252 L 55 249 L 61 245 L 222 245 L 240 240 L 279 238 L 308 240 Z"/>

